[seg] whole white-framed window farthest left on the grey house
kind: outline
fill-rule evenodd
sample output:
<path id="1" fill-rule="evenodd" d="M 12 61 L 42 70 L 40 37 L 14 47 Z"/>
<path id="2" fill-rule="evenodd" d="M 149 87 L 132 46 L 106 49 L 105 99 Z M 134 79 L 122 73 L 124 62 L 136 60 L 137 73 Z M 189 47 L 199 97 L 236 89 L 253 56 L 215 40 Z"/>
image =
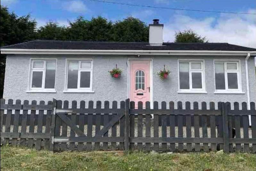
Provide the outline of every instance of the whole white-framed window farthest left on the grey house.
<path id="1" fill-rule="evenodd" d="M 56 60 L 31 60 L 28 92 L 55 92 Z"/>

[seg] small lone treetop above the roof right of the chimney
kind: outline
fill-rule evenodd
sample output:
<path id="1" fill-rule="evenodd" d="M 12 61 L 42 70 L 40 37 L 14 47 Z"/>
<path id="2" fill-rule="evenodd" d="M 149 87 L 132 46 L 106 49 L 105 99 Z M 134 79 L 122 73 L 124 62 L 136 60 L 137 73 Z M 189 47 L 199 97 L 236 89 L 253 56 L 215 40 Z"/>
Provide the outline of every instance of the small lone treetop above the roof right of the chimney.
<path id="1" fill-rule="evenodd" d="M 184 30 L 183 32 L 179 31 L 175 33 L 175 42 L 197 42 L 197 43 L 204 43 L 206 41 L 205 37 L 202 37 L 195 33 L 193 30 L 188 29 Z"/>

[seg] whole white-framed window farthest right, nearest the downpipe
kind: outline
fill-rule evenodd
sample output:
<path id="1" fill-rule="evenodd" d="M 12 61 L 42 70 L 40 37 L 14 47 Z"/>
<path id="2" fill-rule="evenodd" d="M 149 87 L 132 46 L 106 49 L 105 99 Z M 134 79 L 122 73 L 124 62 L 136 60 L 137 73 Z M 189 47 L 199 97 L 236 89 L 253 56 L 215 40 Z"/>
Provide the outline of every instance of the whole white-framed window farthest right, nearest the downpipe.
<path id="1" fill-rule="evenodd" d="M 241 91 L 238 61 L 215 61 L 215 93 Z"/>

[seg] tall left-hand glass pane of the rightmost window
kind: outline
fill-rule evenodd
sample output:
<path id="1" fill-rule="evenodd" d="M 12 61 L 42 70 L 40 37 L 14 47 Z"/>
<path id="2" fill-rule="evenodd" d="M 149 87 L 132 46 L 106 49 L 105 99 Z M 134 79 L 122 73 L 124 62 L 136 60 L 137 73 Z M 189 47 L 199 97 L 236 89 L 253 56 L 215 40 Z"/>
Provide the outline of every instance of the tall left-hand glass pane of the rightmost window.
<path id="1" fill-rule="evenodd" d="M 215 63 L 215 87 L 216 90 L 225 90 L 224 63 Z"/>

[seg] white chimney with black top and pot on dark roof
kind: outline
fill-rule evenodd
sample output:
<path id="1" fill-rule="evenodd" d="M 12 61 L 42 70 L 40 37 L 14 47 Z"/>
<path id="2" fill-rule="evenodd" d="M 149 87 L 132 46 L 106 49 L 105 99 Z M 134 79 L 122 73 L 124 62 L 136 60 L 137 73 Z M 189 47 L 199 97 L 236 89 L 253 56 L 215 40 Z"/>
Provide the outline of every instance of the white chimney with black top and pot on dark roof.
<path id="1" fill-rule="evenodd" d="M 159 24 L 159 19 L 153 19 L 153 24 L 149 25 L 149 45 L 163 45 L 163 24 Z"/>

